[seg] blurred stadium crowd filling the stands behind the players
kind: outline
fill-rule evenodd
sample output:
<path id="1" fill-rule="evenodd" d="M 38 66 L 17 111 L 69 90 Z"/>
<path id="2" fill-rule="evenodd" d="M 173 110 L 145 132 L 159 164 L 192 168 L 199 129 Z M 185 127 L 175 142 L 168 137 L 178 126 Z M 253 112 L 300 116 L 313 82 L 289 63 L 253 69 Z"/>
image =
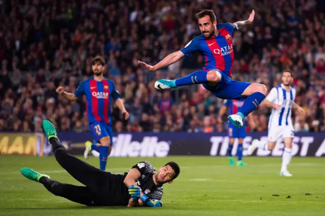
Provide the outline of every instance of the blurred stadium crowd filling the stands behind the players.
<path id="1" fill-rule="evenodd" d="M 68 102 L 55 92 L 74 92 L 91 76 L 90 59 L 107 60 L 131 118 L 114 105 L 115 131 L 221 132 L 222 100 L 201 86 L 157 92 L 153 83 L 200 69 L 192 55 L 149 73 L 138 59 L 155 64 L 200 34 L 194 15 L 212 9 L 217 21 L 235 22 L 255 10 L 254 24 L 233 38 L 234 79 L 280 84 L 281 70 L 294 71 L 296 102 L 306 116 L 294 115 L 295 131 L 325 131 L 325 11 L 319 0 L 12 0 L 0 1 L 0 131 L 42 131 L 51 119 L 58 131 L 87 131 L 85 97 Z M 270 110 L 253 112 L 249 131 L 267 131 Z"/>

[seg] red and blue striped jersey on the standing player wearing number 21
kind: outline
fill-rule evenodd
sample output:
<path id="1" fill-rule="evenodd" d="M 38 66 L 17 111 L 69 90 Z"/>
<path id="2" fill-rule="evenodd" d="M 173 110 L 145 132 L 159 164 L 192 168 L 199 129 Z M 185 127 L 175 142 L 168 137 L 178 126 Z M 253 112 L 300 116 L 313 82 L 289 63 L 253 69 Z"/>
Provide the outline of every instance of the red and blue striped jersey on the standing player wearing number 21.
<path id="1" fill-rule="evenodd" d="M 83 81 L 74 92 L 77 97 L 83 94 L 87 98 L 88 122 L 111 122 L 111 98 L 116 100 L 121 95 L 116 90 L 113 81 L 104 78 L 103 81 L 95 81 L 93 78 Z"/>

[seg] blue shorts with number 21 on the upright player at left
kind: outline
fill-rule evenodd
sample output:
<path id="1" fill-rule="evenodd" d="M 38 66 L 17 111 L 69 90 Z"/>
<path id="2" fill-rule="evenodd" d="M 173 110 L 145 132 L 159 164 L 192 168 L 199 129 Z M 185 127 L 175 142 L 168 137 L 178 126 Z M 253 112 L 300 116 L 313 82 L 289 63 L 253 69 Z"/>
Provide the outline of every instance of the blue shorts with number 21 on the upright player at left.
<path id="1" fill-rule="evenodd" d="M 113 130 L 111 125 L 106 124 L 104 121 L 97 121 L 89 124 L 89 128 L 95 142 L 99 142 L 101 138 L 109 136 L 111 139 L 110 145 L 113 146 Z"/>

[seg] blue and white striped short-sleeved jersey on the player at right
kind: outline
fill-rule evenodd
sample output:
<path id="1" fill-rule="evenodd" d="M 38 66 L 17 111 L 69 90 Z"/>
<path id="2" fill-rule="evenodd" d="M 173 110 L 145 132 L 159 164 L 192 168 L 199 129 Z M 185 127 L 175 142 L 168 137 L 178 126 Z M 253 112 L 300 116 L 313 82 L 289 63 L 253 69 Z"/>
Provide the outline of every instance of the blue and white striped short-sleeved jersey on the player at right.
<path id="1" fill-rule="evenodd" d="M 291 110 L 293 107 L 293 102 L 296 98 L 296 89 L 290 88 L 286 91 L 283 88 L 283 84 L 271 89 L 269 95 L 266 99 L 275 104 L 281 105 L 280 110 L 273 109 L 269 120 L 269 127 L 272 126 L 283 126 L 290 125 L 293 126 L 291 121 Z"/>

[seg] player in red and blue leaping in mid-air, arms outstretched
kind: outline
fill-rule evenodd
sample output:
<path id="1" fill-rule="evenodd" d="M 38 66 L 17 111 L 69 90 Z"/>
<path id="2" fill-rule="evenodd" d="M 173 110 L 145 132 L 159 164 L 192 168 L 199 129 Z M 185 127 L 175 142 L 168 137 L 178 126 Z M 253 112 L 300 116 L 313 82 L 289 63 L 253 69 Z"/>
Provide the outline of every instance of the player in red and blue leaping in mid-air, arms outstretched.
<path id="1" fill-rule="evenodd" d="M 267 89 L 262 84 L 251 84 L 233 80 L 233 33 L 254 20 L 255 12 L 246 21 L 217 24 L 215 14 L 211 10 L 203 10 L 197 14 L 202 34 L 191 40 L 183 49 L 168 55 L 156 65 L 145 62 L 138 63 L 150 71 L 154 71 L 175 63 L 184 56 L 199 51 L 204 58 L 203 70 L 196 71 L 177 80 L 158 80 L 157 89 L 177 88 L 184 85 L 203 84 L 213 95 L 223 99 L 246 98 L 241 112 L 230 115 L 228 120 L 236 127 L 243 126 L 244 117 L 257 108 L 265 98 Z"/>

